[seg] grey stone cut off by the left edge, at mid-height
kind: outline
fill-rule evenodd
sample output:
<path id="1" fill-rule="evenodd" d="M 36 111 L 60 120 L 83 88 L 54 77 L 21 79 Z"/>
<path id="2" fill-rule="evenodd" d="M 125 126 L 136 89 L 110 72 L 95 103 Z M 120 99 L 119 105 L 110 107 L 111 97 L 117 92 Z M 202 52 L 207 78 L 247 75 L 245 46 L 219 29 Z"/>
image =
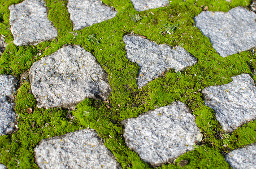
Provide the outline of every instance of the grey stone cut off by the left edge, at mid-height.
<path id="1" fill-rule="evenodd" d="M 15 92 L 17 80 L 12 75 L 0 75 L 0 136 L 15 130 L 15 103 L 10 96 Z"/>

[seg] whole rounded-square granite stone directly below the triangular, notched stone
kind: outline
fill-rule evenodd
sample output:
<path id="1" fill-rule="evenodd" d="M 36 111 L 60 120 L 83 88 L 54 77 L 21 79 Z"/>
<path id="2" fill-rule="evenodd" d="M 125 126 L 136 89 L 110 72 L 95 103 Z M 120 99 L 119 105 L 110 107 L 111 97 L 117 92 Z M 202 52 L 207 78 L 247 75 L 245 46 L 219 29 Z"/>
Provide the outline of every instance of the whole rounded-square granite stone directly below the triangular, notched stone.
<path id="1" fill-rule="evenodd" d="M 153 166 L 172 162 L 193 150 L 200 133 L 188 106 L 181 101 L 125 119 L 125 143 Z"/>

